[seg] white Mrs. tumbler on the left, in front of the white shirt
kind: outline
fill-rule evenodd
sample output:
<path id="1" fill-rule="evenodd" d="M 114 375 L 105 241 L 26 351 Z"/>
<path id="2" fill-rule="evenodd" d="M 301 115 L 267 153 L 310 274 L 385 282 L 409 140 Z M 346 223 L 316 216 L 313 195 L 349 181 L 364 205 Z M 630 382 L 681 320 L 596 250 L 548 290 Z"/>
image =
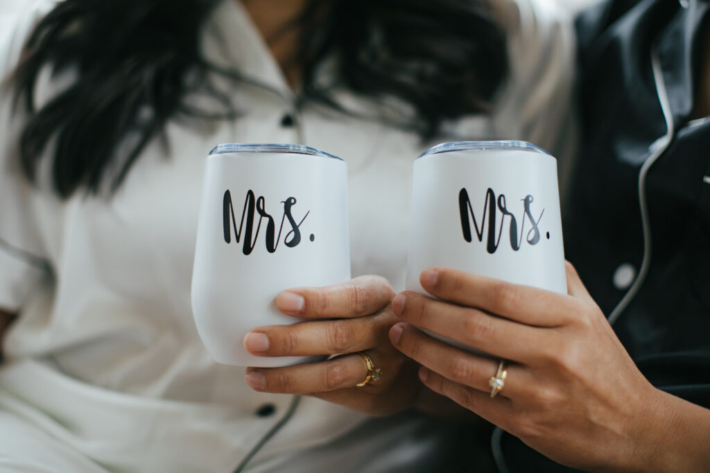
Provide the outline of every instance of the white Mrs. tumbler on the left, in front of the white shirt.
<path id="1" fill-rule="evenodd" d="M 349 279 L 344 161 L 301 145 L 224 144 L 209 153 L 192 312 L 216 361 L 261 367 L 310 361 L 255 357 L 242 339 L 255 327 L 300 321 L 276 308 L 282 290 Z"/>

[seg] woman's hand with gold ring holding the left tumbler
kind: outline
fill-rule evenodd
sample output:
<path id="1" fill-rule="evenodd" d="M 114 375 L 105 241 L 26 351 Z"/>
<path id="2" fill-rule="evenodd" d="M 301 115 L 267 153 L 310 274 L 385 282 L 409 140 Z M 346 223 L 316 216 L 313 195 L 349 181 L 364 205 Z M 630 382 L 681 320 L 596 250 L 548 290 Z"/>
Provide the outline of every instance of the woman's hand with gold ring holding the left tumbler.
<path id="1" fill-rule="evenodd" d="M 371 415 L 412 406 L 421 386 L 418 365 L 388 338 L 398 322 L 391 309 L 393 295 L 388 281 L 379 276 L 280 293 L 279 310 L 307 322 L 256 328 L 244 337 L 244 347 L 261 357 L 339 356 L 285 368 L 249 368 L 246 384 L 256 391 L 315 396 Z M 357 352 L 381 369 L 381 379 L 356 387 L 368 374 Z"/>

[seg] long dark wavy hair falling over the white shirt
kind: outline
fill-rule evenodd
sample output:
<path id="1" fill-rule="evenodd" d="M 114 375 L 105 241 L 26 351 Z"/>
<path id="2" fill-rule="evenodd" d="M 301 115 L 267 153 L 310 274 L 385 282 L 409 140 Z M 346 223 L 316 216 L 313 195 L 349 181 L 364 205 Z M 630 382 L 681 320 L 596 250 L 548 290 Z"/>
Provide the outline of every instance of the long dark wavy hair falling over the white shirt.
<path id="1" fill-rule="evenodd" d="M 229 106 L 215 114 L 185 100 L 197 91 L 219 96 L 212 73 L 239 84 L 238 69 L 219 70 L 200 50 L 202 28 L 219 1 L 239 0 L 58 3 L 34 28 L 13 75 L 16 104 L 28 112 L 19 142 L 28 178 L 35 180 L 51 142 L 58 195 L 98 192 L 109 168 L 115 190 L 169 120 L 236 116 Z M 435 136 L 444 120 L 488 112 L 508 72 L 506 38 L 486 0 L 310 0 L 298 22 L 299 102 L 339 107 L 329 97 L 336 84 L 399 99 L 415 111 L 406 125 L 422 138 Z M 317 68 L 332 55 L 340 58 L 334 83 L 317 83 Z M 54 75 L 72 72 L 75 80 L 35 109 L 45 67 Z"/>

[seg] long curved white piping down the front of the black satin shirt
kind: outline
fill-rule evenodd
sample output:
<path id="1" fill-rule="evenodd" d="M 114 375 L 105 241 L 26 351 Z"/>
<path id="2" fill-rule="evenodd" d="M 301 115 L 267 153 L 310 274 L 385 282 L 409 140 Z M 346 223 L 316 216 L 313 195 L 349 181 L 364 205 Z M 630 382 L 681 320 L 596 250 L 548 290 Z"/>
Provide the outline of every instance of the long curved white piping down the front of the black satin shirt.
<path id="1" fill-rule="evenodd" d="M 670 146 L 670 142 L 672 141 L 673 134 L 675 132 L 670 102 L 668 101 L 668 94 L 665 88 L 665 82 L 663 82 L 660 62 L 658 60 L 657 43 L 655 43 L 655 45 L 651 48 L 651 65 L 653 67 L 653 80 L 656 85 L 658 102 L 660 102 L 661 109 L 663 110 L 667 131 L 665 136 L 657 141 L 659 146 L 655 147 L 651 153 L 651 156 L 649 156 L 643 163 L 643 166 L 641 166 L 640 173 L 638 174 L 638 201 L 641 210 L 641 224 L 643 225 L 643 262 L 641 263 L 638 275 L 636 276 L 635 281 L 633 281 L 633 284 L 629 288 L 628 292 L 623 296 L 623 299 L 621 299 L 618 305 L 616 305 L 616 308 L 611 311 L 611 314 L 608 317 L 609 324 L 616 322 L 618 317 L 621 315 L 621 312 L 626 310 L 628 305 L 631 303 L 631 300 L 633 300 L 633 298 L 635 298 L 638 294 L 638 291 L 640 290 L 643 281 L 645 281 L 646 276 L 648 276 L 648 270 L 651 264 L 652 241 L 650 222 L 648 219 L 648 202 L 646 202 L 646 175 L 648 174 L 648 170 L 650 170 L 653 163 L 655 163 L 655 161 L 666 151 L 668 146 Z"/>

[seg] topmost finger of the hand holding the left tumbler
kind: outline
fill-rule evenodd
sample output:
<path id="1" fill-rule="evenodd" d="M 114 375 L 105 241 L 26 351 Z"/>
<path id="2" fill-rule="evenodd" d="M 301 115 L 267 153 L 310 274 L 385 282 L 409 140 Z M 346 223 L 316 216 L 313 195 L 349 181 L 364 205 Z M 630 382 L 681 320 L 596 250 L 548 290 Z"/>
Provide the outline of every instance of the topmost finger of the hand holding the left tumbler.
<path id="1" fill-rule="evenodd" d="M 362 317 L 386 307 L 393 295 L 385 278 L 360 276 L 335 286 L 285 290 L 276 297 L 276 307 L 294 317 Z"/>

